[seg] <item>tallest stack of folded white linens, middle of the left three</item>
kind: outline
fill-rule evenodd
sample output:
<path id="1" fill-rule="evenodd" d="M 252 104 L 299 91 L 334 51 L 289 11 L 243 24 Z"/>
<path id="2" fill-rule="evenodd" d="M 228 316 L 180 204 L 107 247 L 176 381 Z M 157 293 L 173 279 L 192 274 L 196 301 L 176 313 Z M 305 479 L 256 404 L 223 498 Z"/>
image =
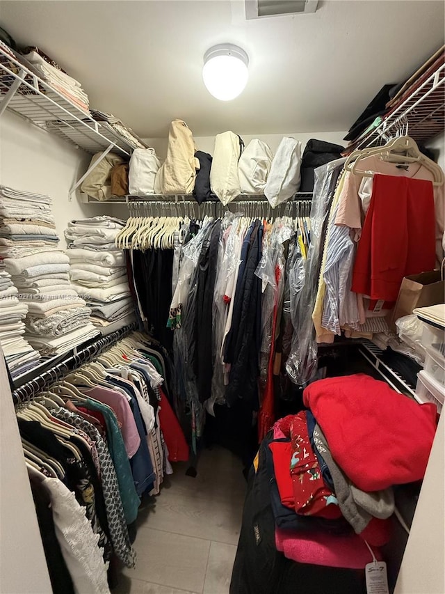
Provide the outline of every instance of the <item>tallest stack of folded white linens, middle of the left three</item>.
<path id="1" fill-rule="evenodd" d="M 0 258 L 27 314 L 24 337 L 44 355 L 63 354 L 97 334 L 57 244 L 51 198 L 0 187 Z"/>

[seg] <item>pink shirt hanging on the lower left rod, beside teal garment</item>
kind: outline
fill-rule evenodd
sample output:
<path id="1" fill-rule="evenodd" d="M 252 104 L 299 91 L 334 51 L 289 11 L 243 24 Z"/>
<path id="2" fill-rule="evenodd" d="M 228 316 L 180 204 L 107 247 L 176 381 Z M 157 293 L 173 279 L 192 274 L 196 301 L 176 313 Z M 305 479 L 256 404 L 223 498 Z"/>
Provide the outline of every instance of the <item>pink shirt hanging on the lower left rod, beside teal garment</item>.
<path id="1" fill-rule="evenodd" d="M 102 386 L 95 386 L 90 390 L 86 390 L 84 393 L 113 409 L 113 412 L 118 418 L 127 455 L 129 458 L 132 458 L 139 449 L 140 437 L 127 398 L 118 391 Z"/>

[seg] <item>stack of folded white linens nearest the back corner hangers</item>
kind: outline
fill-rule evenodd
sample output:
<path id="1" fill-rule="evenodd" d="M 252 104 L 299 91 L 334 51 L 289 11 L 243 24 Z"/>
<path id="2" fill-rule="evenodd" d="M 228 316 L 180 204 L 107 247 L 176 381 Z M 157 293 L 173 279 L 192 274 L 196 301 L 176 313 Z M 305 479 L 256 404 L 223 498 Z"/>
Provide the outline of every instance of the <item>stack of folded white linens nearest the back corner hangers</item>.
<path id="1" fill-rule="evenodd" d="M 113 217 L 72 221 L 65 230 L 74 288 L 92 311 L 91 322 L 102 334 L 134 322 L 125 254 L 115 237 L 124 222 Z"/>

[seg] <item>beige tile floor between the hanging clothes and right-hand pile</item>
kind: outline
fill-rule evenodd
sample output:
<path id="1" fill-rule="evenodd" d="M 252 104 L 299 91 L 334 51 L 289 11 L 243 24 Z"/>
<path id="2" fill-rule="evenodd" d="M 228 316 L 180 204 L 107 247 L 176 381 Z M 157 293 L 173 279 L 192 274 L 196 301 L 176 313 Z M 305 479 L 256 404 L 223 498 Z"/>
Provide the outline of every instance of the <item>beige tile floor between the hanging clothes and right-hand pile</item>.
<path id="1" fill-rule="evenodd" d="M 204 450 L 195 478 L 173 466 L 161 493 L 143 504 L 136 568 L 122 570 L 112 594 L 229 594 L 246 483 L 241 460 Z"/>

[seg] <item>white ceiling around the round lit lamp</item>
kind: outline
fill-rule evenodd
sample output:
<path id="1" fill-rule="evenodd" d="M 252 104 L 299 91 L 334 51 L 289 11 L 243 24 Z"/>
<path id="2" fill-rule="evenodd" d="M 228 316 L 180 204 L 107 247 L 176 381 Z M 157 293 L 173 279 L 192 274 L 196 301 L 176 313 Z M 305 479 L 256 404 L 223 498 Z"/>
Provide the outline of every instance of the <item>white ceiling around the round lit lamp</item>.
<path id="1" fill-rule="evenodd" d="M 324 0 L 314 15 L 246 20 L 243 0 L 0 2 L 0 25 L 76 79 L 90 107 L 140 136 L 173 118 L 195 136 L 348 130 L 385 83 L 444 43 L 441 0 Z M 220 102 L 202 82 L 217 43 L 250 57 L 243 94 Z"/>

